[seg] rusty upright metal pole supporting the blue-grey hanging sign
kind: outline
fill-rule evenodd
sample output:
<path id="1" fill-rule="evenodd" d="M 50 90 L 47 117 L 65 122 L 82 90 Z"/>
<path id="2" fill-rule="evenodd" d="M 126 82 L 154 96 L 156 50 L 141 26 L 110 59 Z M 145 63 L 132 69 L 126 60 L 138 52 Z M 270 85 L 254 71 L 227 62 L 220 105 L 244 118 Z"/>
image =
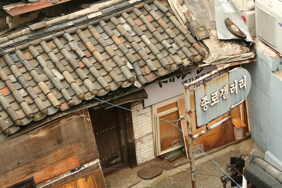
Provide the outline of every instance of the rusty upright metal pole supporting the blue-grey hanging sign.
<path id="1" fill-rule="evenodd" d="M 191 182 L 192 188 L 196 188 L 196 174 L 195 174 L 195 159 L 194 159 L 194 145 L 192 143 L 193 133 L 192 133 L 192 118 L 191 118 L 191 106 L 190 106 L 190 95 L 189 95 L 189 85 L 184 84 L 184 95 L 185 95 L 185 106 L 186 106 L 186 117 L 187 117 L 187 127 L 188 127 L 188 150 L 190 158 L 190 171 L 191 171 Z"/>

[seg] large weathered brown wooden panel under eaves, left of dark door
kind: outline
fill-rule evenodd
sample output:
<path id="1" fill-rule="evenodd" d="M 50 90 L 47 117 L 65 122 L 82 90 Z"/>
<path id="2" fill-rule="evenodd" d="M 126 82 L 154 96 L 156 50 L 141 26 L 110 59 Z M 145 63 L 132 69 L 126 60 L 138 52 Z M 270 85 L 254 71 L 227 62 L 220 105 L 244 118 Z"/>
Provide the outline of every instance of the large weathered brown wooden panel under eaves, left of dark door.
<path id="1" fill-rule="evenodd" d="M 1 143 L 0 153 L 23 160 L 0 158 L 0 187 L 50 166 L 29 161 L 57 164 L 77 156 L 79 163 L 75 164 L 85 164 L 97 159 L 97 146 L 89 120 L 87 110 L 79 111 Z"/>

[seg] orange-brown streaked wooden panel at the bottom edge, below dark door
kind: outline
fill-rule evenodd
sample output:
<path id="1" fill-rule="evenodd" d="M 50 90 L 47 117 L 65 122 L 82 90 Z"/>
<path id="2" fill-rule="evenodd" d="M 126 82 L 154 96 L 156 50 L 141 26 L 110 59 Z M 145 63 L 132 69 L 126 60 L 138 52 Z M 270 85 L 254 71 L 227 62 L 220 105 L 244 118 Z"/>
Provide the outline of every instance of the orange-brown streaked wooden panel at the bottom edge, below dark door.
<path id="1" fill-rule="evenodd" d="M 105 180 L 103 178 L 102 170 L 96 170 L 82 177 L 74 179 L 72 181 L 66 182 L 64 184 L 58 185 L 54 188 L 105 188 Z"/>

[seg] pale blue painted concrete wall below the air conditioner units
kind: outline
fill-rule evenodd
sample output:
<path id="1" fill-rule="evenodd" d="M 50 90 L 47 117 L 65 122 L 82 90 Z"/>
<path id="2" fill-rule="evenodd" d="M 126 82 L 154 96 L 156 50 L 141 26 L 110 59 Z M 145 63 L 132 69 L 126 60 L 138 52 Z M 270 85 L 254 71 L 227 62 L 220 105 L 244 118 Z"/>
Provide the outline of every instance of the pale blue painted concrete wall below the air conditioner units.
<path id="1" fill-rule="evenodd" d="M 256 62 L 243 66 L 252 79 L 248 95 L 251 137 L 265 153 L 265 159 L 282 169 L 281 58 L 259 40 L 255 41 L 255 53 Z"/>

